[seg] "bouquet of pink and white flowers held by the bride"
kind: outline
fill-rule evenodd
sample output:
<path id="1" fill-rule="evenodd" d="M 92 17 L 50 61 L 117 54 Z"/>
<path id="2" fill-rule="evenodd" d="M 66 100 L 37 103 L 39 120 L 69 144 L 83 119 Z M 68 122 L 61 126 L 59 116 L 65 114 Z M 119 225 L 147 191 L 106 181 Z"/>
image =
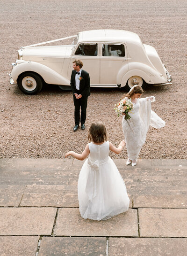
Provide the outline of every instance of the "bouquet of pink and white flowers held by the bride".
<path id="1" fill-rule="evenodd" d="M 130 116 L 128 113 L 130 112 L 131 109 L 133 109 L 133 104 L 130 99 L 128 100 L 122 99 L 120 102 L 115 103 L 114 107 L 115 107 L 114 110 L 117 116 L 120 116 L 122 115 L 122 113 L 124 113 L 125 119 L 126 120 L 130 119 Z"/>

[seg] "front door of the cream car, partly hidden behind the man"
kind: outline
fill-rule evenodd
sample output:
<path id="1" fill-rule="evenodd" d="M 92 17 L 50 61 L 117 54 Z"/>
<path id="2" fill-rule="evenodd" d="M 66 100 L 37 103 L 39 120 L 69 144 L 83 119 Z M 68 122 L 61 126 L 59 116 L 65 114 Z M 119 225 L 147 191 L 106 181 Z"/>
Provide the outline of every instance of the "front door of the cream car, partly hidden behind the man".
<path id="1" fill-rule="evenodd" d="M 98 54 L 98 43 L 79 43 L 72 54 L 71 62 L 68 70 L 68 77 L 72 74 L 72 61 L 75 59 L 83 62 L 83 70 L 86 70 L 90 75 L 90 84 L 100 84 L 100 56 Z"/>

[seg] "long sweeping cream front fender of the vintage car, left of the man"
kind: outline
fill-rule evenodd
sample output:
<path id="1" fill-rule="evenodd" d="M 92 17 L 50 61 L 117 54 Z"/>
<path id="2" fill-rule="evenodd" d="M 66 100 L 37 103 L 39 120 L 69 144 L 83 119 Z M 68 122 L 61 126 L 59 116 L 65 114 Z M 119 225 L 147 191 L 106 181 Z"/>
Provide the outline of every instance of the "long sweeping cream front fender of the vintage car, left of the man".
<path id="1" fill-rule="evenodd" d="M 26 71 L 32 71 L 40 75 L 45 83 L 54 84 L 54 85 L 70 85 L 70 81 L 67 78 L 64 78 L 56 71 L 50 69 L 49 67 L 32 61 L 20 61 L 14 66 L 11 76 L 14 81 L 17 81 L 17 78 L 20 74 Z"/>

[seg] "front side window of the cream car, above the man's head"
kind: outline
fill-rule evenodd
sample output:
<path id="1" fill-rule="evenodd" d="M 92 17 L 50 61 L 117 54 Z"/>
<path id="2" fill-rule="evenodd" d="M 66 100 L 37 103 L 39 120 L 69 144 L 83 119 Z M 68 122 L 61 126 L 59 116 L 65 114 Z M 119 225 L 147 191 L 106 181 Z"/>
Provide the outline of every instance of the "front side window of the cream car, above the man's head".
<path id="1" fill-rule="evenodd" d="M 97 56 L 97 44 L 79 44 L 75 55 Z"/>

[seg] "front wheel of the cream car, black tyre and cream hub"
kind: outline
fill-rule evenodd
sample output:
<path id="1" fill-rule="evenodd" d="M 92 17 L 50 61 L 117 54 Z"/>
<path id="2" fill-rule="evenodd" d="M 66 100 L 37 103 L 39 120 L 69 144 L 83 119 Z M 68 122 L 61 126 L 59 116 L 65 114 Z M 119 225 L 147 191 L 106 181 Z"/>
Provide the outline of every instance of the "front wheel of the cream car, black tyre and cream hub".
<path id="1" fill-rule="evenodd" d="M 43 81 L 39 75 L 25 72 L 18 78 L 18 87 L 23 93 L 36 94 L 42 89 Z"/>

